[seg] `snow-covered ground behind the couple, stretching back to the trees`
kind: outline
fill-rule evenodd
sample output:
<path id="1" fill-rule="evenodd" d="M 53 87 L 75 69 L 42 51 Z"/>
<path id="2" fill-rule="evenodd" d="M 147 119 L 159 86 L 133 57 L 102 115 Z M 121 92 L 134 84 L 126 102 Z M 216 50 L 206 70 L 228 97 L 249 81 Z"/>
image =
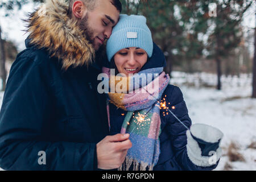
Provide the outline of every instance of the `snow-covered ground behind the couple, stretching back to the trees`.
<path id="1" fill-rule="evenodd" d="M 222 157 L 215 170 L 256 170 L 256 99 L 251 96 L 251 75 L 221 77 L 222 90 L 216 90 L 217 77 L 209 73 L 187 74 L 172 72 L 171 84 L 180 87 L 192 123 L 205 123 L 224 133 Z M 208 85 L 207 87 L 201 85 Z M 0 106 L 3 92 L 0 92 Z M 230 162 L 227 155 L 230 143 L 236 143 L 244 162 Z"/>

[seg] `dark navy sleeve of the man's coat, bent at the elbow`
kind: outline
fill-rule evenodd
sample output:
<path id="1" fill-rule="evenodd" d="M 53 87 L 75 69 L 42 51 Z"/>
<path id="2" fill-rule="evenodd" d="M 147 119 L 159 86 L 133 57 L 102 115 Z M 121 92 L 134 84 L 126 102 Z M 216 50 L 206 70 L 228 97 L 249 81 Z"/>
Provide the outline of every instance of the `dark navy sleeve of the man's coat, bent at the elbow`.
<path id="1" fill-rule="evenodd" d="M 44 56 L 46 57 L 46 56 Z M 46 57 L 47 59 L 48 57 Z M 5 170 L 94 170 L 95 143 L 46 139 L 51 96 L 42 57 L 17 57 L 0 112 L 0 167 Z M 43 60 L 45 61 L 45 60 Z M 43 137 L 42 137 L 43 136 Z"/>

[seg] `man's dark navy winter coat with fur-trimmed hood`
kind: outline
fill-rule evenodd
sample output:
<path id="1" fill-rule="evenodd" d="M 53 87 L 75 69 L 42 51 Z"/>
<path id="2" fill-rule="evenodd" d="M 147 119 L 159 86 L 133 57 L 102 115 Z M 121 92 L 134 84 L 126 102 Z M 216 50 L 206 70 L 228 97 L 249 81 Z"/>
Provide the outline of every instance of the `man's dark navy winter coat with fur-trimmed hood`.
<path id="1" fill-rule="evenodd" d="M 0 111 L 3 169 L 97 169 L 96 144 L 109 134 L 106 98 L 97 92 L 101 67 L 82 65 L 93 59 L 93 49 L 81 44 L 79 27 L 63 22 L 67 9 L 52 5 L 47 14 L 55 18 L 47 24 L 47 16 L 30 17 L 30 39 L 11 66 Z"/>

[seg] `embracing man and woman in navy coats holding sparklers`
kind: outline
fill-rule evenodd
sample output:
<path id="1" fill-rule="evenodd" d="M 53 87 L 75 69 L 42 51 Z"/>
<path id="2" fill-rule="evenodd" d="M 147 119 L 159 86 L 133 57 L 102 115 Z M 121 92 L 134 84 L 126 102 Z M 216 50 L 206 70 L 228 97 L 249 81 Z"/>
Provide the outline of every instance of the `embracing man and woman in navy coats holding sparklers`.
<path id="1" fill-rule="evenodd" d="M 146 18 L 121 10 L 118 0 L 48 0 L 43 14 L 30 15 L 27 48 L 11 67 L 3 97 L 1 168 L 216 168 L 223 134 L 192 125 Z M 126 80 L 127 92 L 99 93 L 102 73 L 110 85 Z M 147 81 L 133 81 L 138 75 Z"/>

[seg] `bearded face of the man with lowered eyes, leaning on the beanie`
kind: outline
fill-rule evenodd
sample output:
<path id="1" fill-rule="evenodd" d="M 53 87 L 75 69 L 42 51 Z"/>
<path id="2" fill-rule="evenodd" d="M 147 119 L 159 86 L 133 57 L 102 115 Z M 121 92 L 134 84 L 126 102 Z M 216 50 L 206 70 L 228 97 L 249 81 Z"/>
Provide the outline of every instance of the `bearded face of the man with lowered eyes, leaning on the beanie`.
<path id="1" fill-rule="evenodd" d="M 119 19 L 119 11 L 108 0 L 98 0 L 92 11 L 87 11 L 81 18 L 80 28 L 97 51 L 109 39 L 112 29 Z"/>

